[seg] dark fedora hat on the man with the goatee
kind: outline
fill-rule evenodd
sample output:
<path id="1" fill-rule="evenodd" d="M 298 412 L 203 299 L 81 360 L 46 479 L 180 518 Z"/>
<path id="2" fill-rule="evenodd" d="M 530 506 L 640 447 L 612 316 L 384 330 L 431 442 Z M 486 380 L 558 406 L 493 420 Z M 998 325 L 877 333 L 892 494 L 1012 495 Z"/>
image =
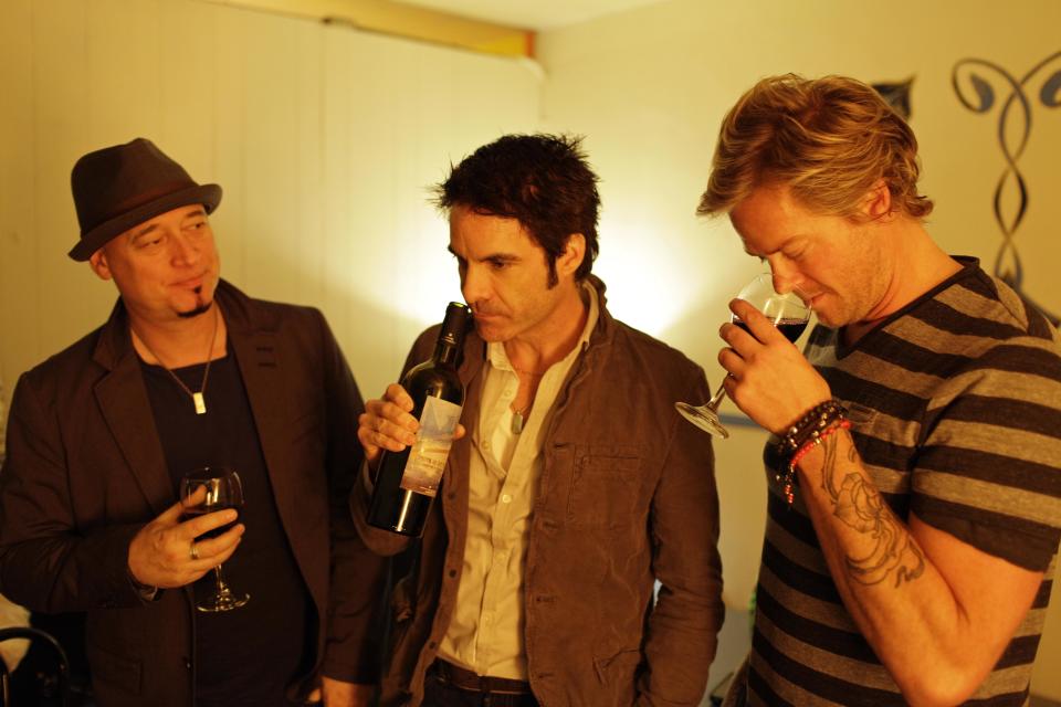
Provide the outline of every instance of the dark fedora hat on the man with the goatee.
<path id="1" fill-rule="evenodd" d="M 86 261 L 104 243 L 148 219 L 192 203 L 207 213 L 221 202 L 221 187 L 198 184 L 155 144 L 138 137 L 77 160 L 70 175 L 81 240 L 70 250 Z"/>

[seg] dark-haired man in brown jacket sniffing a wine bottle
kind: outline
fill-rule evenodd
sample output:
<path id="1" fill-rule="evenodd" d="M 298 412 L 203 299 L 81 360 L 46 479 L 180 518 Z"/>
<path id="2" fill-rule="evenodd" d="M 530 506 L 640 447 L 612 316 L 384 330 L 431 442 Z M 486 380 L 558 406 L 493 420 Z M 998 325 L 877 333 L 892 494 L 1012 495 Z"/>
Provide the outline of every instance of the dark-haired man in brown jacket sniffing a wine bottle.
<path id="1" fill-rule="evenodd" d="M 673 401 L 706 380 L 608 312 L 590 274 L 596 181 L 578 140 L 522 135 L 481 147 L 438 187 L 475 324 L 456 368 L 468 431 L 410 540 L 369 520 L 406 515 L 375 511 L 403 471 L 389 460 L 417 442 L 423 388 L 393 384 L 360 419 L 380 490 L 369 517 L 366 471 L 353 514 L 371 548 L 403 551 L 384 705 L 703 697 L 723 612 L 714 463 Z M 406 370 L 448 356 L 439 333 L 420 337 Z"/>

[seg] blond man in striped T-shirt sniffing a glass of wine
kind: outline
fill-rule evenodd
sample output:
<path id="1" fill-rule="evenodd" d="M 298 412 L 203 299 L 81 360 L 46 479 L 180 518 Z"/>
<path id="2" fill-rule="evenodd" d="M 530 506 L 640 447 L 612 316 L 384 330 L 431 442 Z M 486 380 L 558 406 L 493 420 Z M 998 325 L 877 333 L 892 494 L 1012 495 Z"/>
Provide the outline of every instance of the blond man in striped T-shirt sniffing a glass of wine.
<path id="1" fill-rule="evenodd" d="M 924 219 L 917 143 L 869 86 L 763 80 L 726 116 L 727 213 L 819 325 L 731 308 L 718 361 L 770 436 L 755 637 L 729 704 L 1020 705 L 1061 538 L 1058 331 Z"/>

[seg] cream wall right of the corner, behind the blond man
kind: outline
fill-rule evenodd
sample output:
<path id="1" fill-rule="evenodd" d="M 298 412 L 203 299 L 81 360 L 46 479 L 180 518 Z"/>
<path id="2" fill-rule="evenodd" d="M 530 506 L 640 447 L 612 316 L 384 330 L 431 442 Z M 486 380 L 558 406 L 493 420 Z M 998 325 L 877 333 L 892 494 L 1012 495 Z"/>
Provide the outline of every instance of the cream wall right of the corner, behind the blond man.
<path id="1" fill-rule="evenodd" d="M 542 34 L 546 127 L 586 134 L 603 176 L 598 270 L 614 291 L 617 314 L 685 350 L 718 379 L 724 303 L 758 263 L 742 253 L 725 220 L 698 221 L 693 212 L 722 117 L 757 78 L 776 73 L 871 82 L 914 76 L 922 184 L 937 204 L 931 231 L 950 252 L 990 264 L 1001 244 L 991 214 L 1004 169 L 998 107 L 989 116 L 963 108 L 952 68 L 980 57 L 1023 76 L 1061 50 L 1059 22 L 1054 0 L 672 0 Z M 1030 83 L 1033 127 L 1019 162 L 1030 201 L 1017 233 L 1027 291 L 1054 313 L 1061 313 L 1061 281 L 1052 272 L 1061 255 L 1054 228 L 1061 218 L 1061 112 L 1044 107 L 1038 92 L 1058 68 L 1061 62 Z M 1001 86 L 990 73 L 984 76 Z M 1011 193 L 1004 205 L 1012 213 Z M 747 604 L 761 547 L 760 445 L 760 434 L 740 431 L 715 447 L 726 600 L 734 609 Z M 1033 688 L 1057 698 L 1061 592 L 1053 599 Z M 715 677 L 722 674 L 716 668 Z"/>

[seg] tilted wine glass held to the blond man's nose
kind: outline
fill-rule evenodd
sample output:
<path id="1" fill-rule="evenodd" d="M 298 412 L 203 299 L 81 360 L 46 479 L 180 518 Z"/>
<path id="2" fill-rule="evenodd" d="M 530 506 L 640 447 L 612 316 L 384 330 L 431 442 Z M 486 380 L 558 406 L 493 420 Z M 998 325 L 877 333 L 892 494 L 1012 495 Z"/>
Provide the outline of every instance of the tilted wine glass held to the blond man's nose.
<path id="1" fill-rule="evenodd" d="M 774 277 L 769 274 L 758 275 L 745 285 L 737 298 L 744 299 L 761 312 L 785 335 L 785 338 L 792 342 L 799 338 L 810 320 L 810 307 L 805 305 L 803 300 L 795 293 L 779 295 L 774 289 Z M 729 320 L 748 331 L 747 325 L 740 321 L 736 315 L 732 315 Z M 722 399 L 725 397 L 725 386 L 718 386 L 718 390 L 711 397 L 711 400 L 702 405 L 676 402 L 674 407 L 677 408 L 683 418 L 704 432 L 726 439 L 729 436 L 729 431 L 723 426 L 718 419 L 718 405 L 722 404 Z"/>

